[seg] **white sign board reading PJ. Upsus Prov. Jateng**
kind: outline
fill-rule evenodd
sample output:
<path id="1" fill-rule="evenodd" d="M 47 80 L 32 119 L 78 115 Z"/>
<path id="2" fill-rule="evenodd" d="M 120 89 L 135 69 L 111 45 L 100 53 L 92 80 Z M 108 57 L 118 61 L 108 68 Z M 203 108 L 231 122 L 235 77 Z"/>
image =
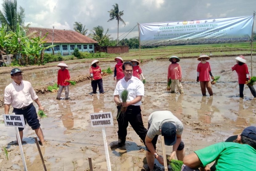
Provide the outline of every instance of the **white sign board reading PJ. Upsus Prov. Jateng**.
<path id="1" fill-rule="evenodd" d="M 5 126 L 25 128 L 25 120 L 23 115 L 5 115 L 3 114 Z"/>

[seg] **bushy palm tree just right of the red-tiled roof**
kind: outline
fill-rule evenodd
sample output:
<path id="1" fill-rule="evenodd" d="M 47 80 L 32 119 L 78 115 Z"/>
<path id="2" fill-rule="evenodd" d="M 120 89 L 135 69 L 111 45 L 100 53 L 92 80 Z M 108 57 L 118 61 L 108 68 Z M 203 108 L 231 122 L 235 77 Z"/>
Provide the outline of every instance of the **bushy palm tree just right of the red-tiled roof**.
<path id="1" fill-rule="evenodd" d="M 107 46 L 110 39 L 110 34 L 108 34 L 109 29 L 104 34 L 104 29 L 102 26 L 93 27 L 93 40 L 99 42 L 100 46 Z"/>

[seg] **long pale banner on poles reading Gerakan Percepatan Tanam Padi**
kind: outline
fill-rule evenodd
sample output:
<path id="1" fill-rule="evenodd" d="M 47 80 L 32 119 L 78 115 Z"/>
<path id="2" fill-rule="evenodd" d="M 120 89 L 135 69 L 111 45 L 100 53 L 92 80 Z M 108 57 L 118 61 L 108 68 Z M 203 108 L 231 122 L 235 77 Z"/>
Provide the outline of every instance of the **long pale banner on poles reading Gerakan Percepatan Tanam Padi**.
<path id="1" fill-rule="evenodd" d="M 251 40 L 254 16 L 139 24 L 141 46 Z"/>

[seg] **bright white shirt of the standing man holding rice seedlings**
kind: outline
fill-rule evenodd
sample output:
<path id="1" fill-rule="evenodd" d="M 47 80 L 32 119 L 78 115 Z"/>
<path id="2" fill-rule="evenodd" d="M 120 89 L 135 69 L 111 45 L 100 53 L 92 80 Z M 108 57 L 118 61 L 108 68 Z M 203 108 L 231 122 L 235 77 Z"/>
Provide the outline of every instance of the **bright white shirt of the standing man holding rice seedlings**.
<path id="1" fill-rule="evenodd" d="M 138 78 L 132 76 L 128 82 L 125 81 L 125 77 L 117 82 L 114 96 L 119 95 L 119 99 L 122 102 L 121 93 L 124 89 L 128 90 L 127 101 L 134 100 L 137 96 L 144 96 L 144 84 Z M 141 105 L 141 101 L 134 104 L 135 106 Z"/>

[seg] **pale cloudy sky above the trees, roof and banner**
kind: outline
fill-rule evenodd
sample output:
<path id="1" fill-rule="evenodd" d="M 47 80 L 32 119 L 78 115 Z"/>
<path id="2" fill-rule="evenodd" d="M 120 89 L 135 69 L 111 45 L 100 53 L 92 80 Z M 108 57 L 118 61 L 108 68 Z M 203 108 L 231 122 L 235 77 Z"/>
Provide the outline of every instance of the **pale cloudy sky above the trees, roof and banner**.
<path id="1" fill-rule="evenodd" d="M 25 24 L 31 23 L 33 27 L 73 30 L 74 22 L 81 22 L 89 30 L 98 25 L 103 26 L 104 33 L 109 29 L 114 39 L 117 21 L 107 22 L 108 11 L 118 3 L 126 23 L 126 26 L 119 24 L 120 40 L 137 23 L 249 16 L 256 11 L 256 0 L 17 0 L 17 3 L 25 9 Z M 138 26 L 126 38 L 135 36 Z"/>

